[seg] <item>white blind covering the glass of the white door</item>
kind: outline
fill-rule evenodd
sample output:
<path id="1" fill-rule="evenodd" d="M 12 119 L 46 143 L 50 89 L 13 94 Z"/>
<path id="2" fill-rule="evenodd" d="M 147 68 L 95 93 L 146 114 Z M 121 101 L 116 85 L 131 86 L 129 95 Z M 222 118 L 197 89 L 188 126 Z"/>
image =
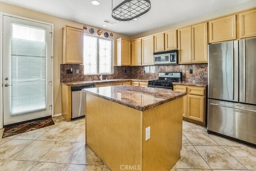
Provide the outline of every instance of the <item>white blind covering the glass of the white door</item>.
<path id="1" fill-rule="evenodd" d="M 12 115 L 46 109 L 45 30 L 12 24 Z"/>

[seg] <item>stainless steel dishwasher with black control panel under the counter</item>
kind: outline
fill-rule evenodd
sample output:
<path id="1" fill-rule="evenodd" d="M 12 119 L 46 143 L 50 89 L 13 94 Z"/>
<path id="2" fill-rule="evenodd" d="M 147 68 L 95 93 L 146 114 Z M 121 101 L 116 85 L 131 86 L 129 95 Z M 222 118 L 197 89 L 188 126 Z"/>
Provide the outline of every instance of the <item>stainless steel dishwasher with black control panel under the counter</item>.
<path id="1" fill-rule="evenodd" d="M 71 117 L 71 120 L 84 116 L 85 93 L 82 92 L 82 89 L 91 88 L 91 87 L 94 87 L 94 84 L 71 87 L 71 92 L 72 92 L 72 115 L 71 115 L 72 117 Z"/>

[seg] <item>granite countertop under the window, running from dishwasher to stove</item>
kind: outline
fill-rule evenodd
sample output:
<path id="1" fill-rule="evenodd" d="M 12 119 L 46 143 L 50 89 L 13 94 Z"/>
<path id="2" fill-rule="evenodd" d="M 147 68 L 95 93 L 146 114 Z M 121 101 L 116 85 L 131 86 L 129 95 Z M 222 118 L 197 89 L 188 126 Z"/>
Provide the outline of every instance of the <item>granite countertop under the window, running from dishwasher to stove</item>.
<path id="1" fill-rule="evenodd" d="M 152 80 L 152 79 L 151 79 Z M 100 83 L 111 83 L 111 82 L 125 82 L 125 81 L 138 81 L 138 82 L 148 82 L 145 79 L 111 79 L 111 80 L 89 80 L 89 81 L 74 81 L 74 82 L 60 82 L 64 85 L 86 85 L 86 84 L 100 84 Z"/>

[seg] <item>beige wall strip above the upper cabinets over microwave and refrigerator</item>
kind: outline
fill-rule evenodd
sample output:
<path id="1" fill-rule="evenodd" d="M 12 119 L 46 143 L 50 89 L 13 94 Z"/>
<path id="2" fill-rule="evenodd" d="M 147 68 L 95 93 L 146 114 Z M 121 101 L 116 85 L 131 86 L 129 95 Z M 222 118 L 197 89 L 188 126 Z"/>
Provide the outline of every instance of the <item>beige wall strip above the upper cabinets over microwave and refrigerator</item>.
<path id="1" fill-rule="evenodd" d="M 175 23 L 175 24 L 171 24 L 171 25 L 168 25 L 168 26 L 164 26 L 164 27 L 161 27 L 161 28 L 150 30 L 148 32 L 144 32 L 144 33 L 141 33 L 141 34 L 136 34 L 136 35 L 131 36 L 131 40 L 134 40 L 134 39 L 137 39 L 137 38 L 142 38 L 144 36 L 149 36 L 149 35 L 160 33 L 160 32 L 164 32 L 164 31 L 167 31 L 167 30 L 172 30 L 172 29 L 176 29 L 176 28 L 185 27 L 185 26 L 188 26 L 188 25 L 192 25 L 194 23 L 198 23 L 198 22 L 202 22 L 202 21 L 205 21 L 205 20 L 210 20 L 212 18 L 224 16 L 224 15 L 227 15 L 227 14 L 231 14 L 231 13 L 234 13 L 234 12 L 246 10 L 248 8 L 252 8 L 252 7 L 255 7 L 255 6 L 256 6 L 256 0 L 251 0 L 251 1 L 239 4 L 239 5 L 236 5 L 236 6 L 232 6 L 231 8 L 219 10 L 219 11 L 216 11 L 216 12 L 211 12 L 209 14 L 205 14 L 205 15 L 198 16 L 198 17 L 195 17 L 195 18 L 191 18 L 189 20 L 185 20 L 185 21 L 182 21 L 182 22 L 178 22 L 178 23 Z"/>

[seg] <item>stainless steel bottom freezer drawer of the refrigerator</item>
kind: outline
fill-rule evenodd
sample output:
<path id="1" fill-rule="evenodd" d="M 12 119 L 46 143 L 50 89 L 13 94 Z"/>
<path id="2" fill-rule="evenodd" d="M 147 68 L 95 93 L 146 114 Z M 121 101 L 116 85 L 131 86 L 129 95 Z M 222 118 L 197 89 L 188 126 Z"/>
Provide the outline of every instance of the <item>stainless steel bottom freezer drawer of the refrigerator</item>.
<path id="1" fill-rule="evenodd" d="M 256 144 L 256 106 L 208 99 L 208 130 Z"/>

